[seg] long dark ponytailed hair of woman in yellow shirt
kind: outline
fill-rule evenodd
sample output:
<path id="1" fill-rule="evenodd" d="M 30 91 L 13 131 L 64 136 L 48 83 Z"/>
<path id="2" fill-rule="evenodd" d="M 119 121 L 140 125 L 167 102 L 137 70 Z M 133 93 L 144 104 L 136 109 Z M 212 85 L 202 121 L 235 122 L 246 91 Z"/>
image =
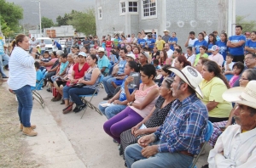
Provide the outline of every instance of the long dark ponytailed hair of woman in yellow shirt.
<path id="1" fill-rule="evenodd" d="M 221 70 L 218 66 L 218 64 L 212 60 L 208 60 L 204 66 L 207 67 L 207 70 L 209 72 L 213 72 L 214 76 L 220 78 L 222 81 L 224 81 L 224 84 L 226 85 L 227 88 L 230 88 L 229 81 L 227 81 L 226 77 L 221 73 Z"/>

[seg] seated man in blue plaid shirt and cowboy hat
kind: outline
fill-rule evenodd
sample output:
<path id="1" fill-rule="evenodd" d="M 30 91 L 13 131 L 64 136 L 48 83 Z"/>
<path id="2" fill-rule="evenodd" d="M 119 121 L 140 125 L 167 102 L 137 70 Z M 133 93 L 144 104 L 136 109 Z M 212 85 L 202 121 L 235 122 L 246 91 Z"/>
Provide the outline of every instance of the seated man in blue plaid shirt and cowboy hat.
<path id="1" fill-rule="evenodd" d="M 197 98 L 202 96 L 199 84 L 201 74 L 190 66 L 183 70 L 169 69 L 176 74 L 172 96 L 176 97 L 166 120 L 160 128 L 138 139 L 137 144 L 125 148 L 128 167 L 188 168 L 207 132 L 208 111 Z"/>

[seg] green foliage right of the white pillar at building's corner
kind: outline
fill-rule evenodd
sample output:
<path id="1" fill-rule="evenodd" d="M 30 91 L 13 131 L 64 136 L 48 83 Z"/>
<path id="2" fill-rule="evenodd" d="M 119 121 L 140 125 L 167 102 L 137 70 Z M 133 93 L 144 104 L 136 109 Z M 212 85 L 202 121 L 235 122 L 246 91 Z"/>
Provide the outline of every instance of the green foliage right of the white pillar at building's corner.
<path id="1" fill-rule="evenodd" d="M 256 20 L 246 20 L 246 16 L 236 15 L 236 25 L 242 26 L 242 32 L 256 31 Z"/>

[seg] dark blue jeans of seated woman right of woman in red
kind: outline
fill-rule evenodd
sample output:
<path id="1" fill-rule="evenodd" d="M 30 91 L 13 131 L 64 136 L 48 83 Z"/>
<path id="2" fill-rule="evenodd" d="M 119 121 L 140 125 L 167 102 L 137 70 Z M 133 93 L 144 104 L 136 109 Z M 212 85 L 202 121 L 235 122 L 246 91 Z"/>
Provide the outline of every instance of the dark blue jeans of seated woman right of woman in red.
<path id="1" fill-rule="evenodd" d="M 73 88 L 69 89 L 68 92 L 69 92 L 71 99 L 73 100 L 73 102 L 75 104 L 82 105 L 84 103 L 82 102 L 81 98 L 79 98 L 79 95 L 93 94 L 95 92 L 95 89 L 89 88 L 89 87 L 81 87 L 81 88 L 73 87 Z"/>

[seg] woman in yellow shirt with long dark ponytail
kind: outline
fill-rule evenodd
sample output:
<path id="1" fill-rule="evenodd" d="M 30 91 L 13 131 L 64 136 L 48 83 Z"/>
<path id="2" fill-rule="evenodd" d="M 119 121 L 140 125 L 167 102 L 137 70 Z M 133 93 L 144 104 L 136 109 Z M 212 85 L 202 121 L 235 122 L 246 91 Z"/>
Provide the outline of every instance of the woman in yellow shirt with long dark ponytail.
<path id="1" fill-rule="evenodd" d="M 199 87 L 203 93 L 202 102 L 207 105 L 211 122 L 229 120 L 231 103 L 222 98 L 223 92 L 230 88 L 229 82 L 221 73 L 218 64 L 208 60 L 202 66 L 201 75 L 204 78 Z"/>

